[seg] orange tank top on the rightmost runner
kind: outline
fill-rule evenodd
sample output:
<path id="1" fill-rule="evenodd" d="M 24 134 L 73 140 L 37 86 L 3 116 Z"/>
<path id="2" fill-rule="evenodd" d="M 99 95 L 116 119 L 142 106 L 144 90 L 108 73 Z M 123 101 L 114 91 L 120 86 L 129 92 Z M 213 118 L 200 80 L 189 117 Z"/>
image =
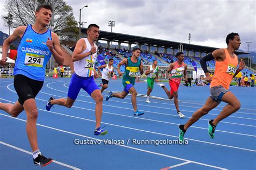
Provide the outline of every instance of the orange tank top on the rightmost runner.
<path id="1" fill-rule="evenodd" d="M 212 77 L 211 87 L 223 86 L 225 89 L 228 90 L 230 88 L 230 83 L 233 79 L 235 71 L 237 70 L 238 58 L 235 54 L 232 58 L 228 53 L 227 48 L 224 48 L 224 50 L 226 56 L 225 60 L 215 60 L 215 71 Z"/>

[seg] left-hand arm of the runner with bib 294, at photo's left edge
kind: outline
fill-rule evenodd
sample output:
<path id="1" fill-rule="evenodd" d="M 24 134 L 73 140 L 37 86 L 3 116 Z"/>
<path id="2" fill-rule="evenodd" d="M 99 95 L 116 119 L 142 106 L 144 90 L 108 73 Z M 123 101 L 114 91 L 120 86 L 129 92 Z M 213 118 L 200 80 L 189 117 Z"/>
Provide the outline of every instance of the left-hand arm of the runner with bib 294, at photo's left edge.
<path id="1" fill-rule="evenodd" d="M 6 64 L 7 54 L 10 49 L 11 42 L 14 42 L 18 38 L 22 38 L 24 32 L 26 30 L 26 26 L 18 26 L 17 29 L 9 36 L 3 43 L 3 52 L 2 52 L 2 60 L 0 60 L 1 65 Z"/>

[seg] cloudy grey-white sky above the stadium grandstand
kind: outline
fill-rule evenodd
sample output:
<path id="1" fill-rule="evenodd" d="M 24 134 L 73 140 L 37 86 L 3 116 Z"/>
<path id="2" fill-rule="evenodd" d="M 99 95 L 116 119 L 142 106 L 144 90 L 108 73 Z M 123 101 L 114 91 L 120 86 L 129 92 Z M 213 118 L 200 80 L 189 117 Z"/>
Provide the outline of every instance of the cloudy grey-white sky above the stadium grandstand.
<path id="1" fill-rule="evenodd" d="M 226 47 L 228 33 L 237 32 L 241 38 L 240 49 L 248 51 L 246 41 L 252 42 L 250 51 L 256 52 L 255 0 L 64 0 L 73 8 L 79 21 L 99 25 L 100 30 L 111 31 L 109 20 L 116 25 L 112 32 L 130 34 L 191 44 Z M 4 1 L 0 1 L 0 13 Z M 0 18 L 3 23 L 2 17 Z M 0 31 L 9 33 L 8 27 L 0 24 Z M 12 32 L 12 31 L 11 31 Z"/>

